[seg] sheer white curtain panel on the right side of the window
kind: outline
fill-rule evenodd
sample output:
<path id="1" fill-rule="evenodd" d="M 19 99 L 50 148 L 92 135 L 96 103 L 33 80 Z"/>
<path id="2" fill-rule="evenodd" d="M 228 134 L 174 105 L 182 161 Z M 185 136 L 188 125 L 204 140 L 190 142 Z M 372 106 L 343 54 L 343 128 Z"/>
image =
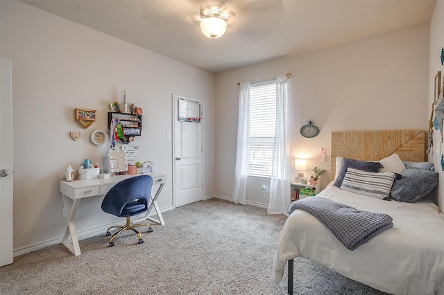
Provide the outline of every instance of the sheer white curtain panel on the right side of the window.
<path id="1" fill-rule="evenodd" d="M 278 77 L 276 82 L 276 129 L 273 147 L 273 176 L 270 181 L 268 214 L 288 215 L 290 206 L 291 155 L 287 138 L 287 78 Z"/>

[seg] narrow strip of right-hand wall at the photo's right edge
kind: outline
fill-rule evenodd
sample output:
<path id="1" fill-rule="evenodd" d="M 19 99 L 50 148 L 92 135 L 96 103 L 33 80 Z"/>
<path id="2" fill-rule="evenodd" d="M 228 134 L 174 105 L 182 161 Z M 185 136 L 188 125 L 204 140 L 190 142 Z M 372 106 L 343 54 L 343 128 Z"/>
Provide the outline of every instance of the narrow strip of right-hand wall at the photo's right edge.
<path id="1" fill-rule="evenodd" d="M 427 114 L 432 111 L 432 102 L 434 102 L 434 85 L 435 85 L 435 75 L 438 71 L 441 71 L 441 85 L 444 79 L 444 66 L 441 64 L 441 48 L 443 48 L 444 43 L 444 1 L 436 1 L 435 10 L 433 13 L 432 21 L 430 21 L 430 43 L 429 43 L 429 95 L 428 95 L 428 109 Z M 441 154 L 444 150 L 436 150 L 436 147 L 440 146 L 441 143 L 441 133 L 434 129 L 434 148 L 432 149 L 432 159 L 436 171 L 439 173 L 439 184 L 438 184 L 438 194 L 439 207 L 441 212 L 444 208 L 444 173 L 441 168 Z"/>

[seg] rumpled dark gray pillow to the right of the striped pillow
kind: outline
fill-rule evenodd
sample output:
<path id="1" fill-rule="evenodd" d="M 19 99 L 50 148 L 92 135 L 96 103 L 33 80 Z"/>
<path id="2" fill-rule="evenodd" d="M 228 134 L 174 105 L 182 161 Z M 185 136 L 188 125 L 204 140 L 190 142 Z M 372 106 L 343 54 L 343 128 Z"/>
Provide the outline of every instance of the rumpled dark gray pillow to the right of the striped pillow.
<path id="1" fill-rule="evenodd" d="M 390 197 L 399 202 L 414 203 L 438 186 L 438 172 L 422 169 L 406 169 L 402 177 L 393 181 Z"/>

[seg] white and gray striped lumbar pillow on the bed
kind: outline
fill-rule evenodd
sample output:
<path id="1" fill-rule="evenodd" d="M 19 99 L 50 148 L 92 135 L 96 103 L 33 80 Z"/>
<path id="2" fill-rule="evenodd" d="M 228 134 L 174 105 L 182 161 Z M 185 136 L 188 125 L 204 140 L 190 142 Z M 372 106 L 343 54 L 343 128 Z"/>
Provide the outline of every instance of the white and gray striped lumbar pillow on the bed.
<path id="1" fill-rule="evenodd" d="M 393 172 L 366 172 L 347 168 L 341 189 L 359 195 L 390 199 L 390 190 L 395 179 Z"/>

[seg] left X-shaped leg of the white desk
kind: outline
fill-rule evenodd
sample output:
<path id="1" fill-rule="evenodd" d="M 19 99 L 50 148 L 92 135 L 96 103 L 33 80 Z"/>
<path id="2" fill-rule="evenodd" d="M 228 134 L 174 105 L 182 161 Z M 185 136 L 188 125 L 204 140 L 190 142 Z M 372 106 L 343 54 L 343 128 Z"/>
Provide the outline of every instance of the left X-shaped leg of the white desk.
<path id="1" fill-rule="evenodd" d="M 62 244 L 64 244 L 65 247 L 67 247 L 67 249 L 71 251 L 75 256 L 79 256 L 80 246 L 78 245 L 77 231 L 74 220 L 76 218 L 78 205 L 80 204 L 80 199 L 69 199 L 69 197 L 65 197 L 65 195 L 63 194 L 62 199 L 68 220 L 67 230 L 65 231 L 65 235 L 63 236 Z M 69 235 L 71 235 L 71 242 L 69 242 Z"/>

